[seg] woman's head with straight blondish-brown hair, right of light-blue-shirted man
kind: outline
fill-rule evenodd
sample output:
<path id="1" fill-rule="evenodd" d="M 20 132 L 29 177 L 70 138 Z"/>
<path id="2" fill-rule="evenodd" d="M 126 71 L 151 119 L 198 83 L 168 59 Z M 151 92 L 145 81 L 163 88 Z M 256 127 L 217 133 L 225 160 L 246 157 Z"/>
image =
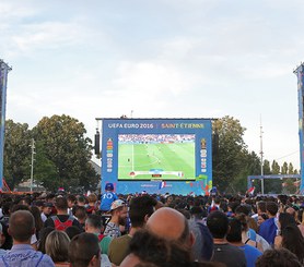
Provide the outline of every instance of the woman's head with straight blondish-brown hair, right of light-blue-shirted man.
<path id="1" fill-rule="evenodd" d="M 68 262 L 70 239 L 65 231 L 52 231 L 47 235 L 45 248 L 54 263 Z"/>

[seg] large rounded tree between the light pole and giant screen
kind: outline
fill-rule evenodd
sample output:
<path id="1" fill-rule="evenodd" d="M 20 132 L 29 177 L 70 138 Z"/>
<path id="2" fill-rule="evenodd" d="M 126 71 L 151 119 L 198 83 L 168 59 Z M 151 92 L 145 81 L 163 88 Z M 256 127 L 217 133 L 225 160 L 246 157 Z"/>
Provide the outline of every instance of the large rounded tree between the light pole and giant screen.
<path id="1" fill-rule="evenodd" d="M 52 184 L 68 190 L 96 187 L 98 177 L 90 165 L 92 141 L 84 137 L 85 133 L 83 123 L 65 114 L 45 117 L 38 122 L 34 134 L 45 155 L 37 169 L 49 170 L 48 175 L 37 178 L 44 185 L 47 185 L 48 177 L 52 177 Z"/>

